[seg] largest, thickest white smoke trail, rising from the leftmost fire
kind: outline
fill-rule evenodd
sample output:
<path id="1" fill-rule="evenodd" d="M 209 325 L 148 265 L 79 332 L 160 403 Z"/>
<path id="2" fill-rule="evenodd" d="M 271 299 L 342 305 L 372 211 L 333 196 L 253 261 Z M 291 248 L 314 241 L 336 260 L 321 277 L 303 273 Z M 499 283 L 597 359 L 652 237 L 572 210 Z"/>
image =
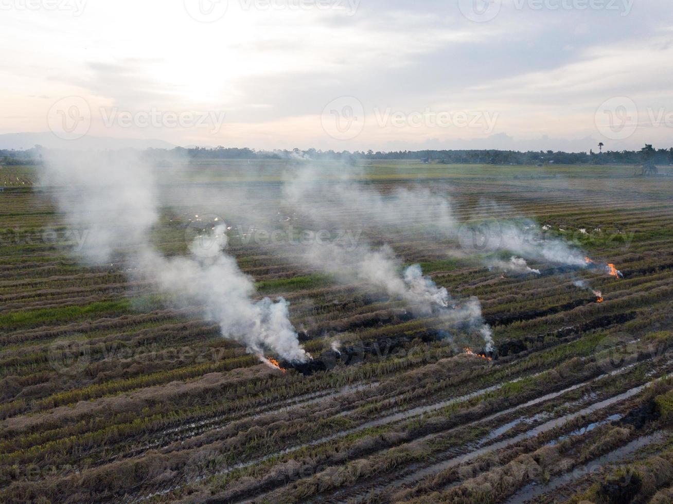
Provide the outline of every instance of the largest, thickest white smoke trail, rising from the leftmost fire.
<path id="1" fill-rule="evenodd" d="M 135 275 L 181 303 L 203 305 L 222 335 L 248 352 L 269 349 L 289 361 L 310 359 L 289 322 L 287 302 L 252 299 L 254 282 L 222 252 L 227 244 L 223 225 L 209 237 L 214 254 L 203 254 L 197 238 L 190 244 L 192 256 L 167 258 L 151 242 L 159 217 L 154 170 L 133 153 L 75 156 L 49 159 L 43 183 L 57 186 L 55 197 L 68 225 L 89 231 L 79 251 L 86 262 L 120 256 Z"/>

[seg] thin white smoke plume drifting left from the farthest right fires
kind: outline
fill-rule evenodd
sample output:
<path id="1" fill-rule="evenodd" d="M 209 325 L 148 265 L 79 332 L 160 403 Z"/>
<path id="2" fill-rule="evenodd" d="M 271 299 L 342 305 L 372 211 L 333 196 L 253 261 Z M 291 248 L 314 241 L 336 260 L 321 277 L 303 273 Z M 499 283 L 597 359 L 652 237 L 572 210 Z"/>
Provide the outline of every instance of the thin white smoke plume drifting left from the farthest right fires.
<path id="1" fill-rule="evenodd" d="M 546 236 L 530 219 L 482 219 L 460 223 L 449 196 L 435 194 L 427 188 L 398 188 L 382 194 L 357 182 L 359 174 L 345 168 L 336 178 L 315 168 L 299 172 L 286 185 L 288 201 L 300 211 L 311 215 L 321 225 L 373 225 L 380 228 L 411 228 L 420 234 L 430 232 L 450 240 L 458 240 L 460 250 L 446 250 L 450 256 L 476 256 L 508 250 L 521 258 L 567 266 L 586 267 L 584 254 L 563 240 Z M 325 208 L 328 208 L 326 210 Z M 481 203 L 472 212 L 479 215 L 512 213 L 495 203 Z M 424 229 L 427 228 L 427 229 Z M 487 266 L 495 259 L 484 258 Z"/>

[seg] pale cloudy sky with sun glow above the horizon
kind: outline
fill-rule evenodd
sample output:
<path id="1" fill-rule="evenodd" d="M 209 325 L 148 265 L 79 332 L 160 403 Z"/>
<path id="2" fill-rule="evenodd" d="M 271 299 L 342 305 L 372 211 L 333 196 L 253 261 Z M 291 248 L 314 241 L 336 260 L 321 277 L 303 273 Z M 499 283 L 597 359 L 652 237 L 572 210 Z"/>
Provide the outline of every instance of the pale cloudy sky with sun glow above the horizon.
<path id="1" fill-rule="evenodd" d="M 0 0 L 0 135 L 673 145 L 670 0 Z"/>

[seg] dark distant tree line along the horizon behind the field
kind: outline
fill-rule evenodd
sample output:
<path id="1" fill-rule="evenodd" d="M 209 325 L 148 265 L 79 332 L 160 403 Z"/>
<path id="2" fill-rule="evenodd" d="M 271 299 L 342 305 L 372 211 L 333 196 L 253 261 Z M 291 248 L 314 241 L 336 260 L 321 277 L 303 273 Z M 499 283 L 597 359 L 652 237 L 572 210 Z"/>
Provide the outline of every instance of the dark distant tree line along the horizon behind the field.
<path id="1" fill-rule="evenodd" d="M 602 149 L 602 145 L 600 145 Z M 24 151 L 0 150 L 0 164 L 40 164 L 44 148 L 36 145 Z M 438 164 L 673 164 L 673 147 L 655 149 L 645 145 L 639 151 L 563 152 L 563 151 L 500 151 L 500 150 L 426 150 L 426 151 L 322 151 L 317 149 L 264 151 L 236 147 L 194 147 L 186 149 L 147 149 L 149 159 L 162 159 L 178 154 L 186 159 L 315 159 L 357 164 L 363 160 L 409 160 Z"/>

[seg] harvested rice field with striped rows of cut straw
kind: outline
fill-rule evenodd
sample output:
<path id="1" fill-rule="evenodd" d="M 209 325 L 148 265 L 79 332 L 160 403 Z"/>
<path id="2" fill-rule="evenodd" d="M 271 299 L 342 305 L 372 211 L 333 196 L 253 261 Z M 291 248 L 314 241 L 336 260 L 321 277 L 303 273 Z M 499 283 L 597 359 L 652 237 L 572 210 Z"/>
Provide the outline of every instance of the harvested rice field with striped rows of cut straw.
<path id="1" fill-rule="evenodd" d="M 40 167 L 2 167 L 0 501 L 673 500 L 673 177 L 631 166 L 360 167 L 353 180 L 368 190 L 425 188 L 466 223 L 532 219 L 623 273 L 536 260 L 540 274 L 491 271 L 471 252 L 449 253 L 460 244 L 432 222 L 391 233 L 357 208 L 330 213 L 332 236 L 360 222 L 349 229 L 359 239 L 420 264 L 455 299 L 478 298 L 493 328 L 487 352 L 441 318 L 307 265 L 301 246 L 247 239 L 256 213 L 277 215 L 279 230 L 311 229 L 283 199 L 301 162 L 205 161 L 166 176 L 155 229 L 166 254 L 185 254 L 197 216 L 225 219 L 257 295 L 289 301 L 320 363 L 283 369 L 125 264 L 78 261 L 87 230 L 65 223 L 59 188 L 38 184 Z M 326 183 L 339 180 L 339 166 L 324 168 L 334 170 Z M 227 202 L 199 201 L 192 189 L 204 187 Z"/>

